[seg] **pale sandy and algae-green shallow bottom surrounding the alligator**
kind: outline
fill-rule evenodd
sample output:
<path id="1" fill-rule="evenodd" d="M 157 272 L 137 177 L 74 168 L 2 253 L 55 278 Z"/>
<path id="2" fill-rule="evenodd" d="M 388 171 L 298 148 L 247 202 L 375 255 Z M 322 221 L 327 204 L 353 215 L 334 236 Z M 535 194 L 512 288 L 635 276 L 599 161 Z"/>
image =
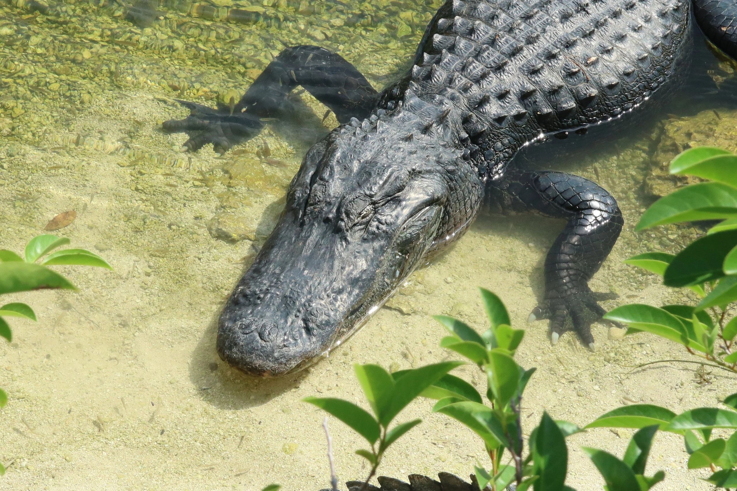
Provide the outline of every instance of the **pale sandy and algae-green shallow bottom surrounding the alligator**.
<path id="1" fill-rule="evenodd" d="M 302 93 L 294 99 L 302 124 L 272 124 L 223 157 L 209 147 L 182 153 L 186 136 L 158 130 L 161 121 L 186 115 L 173 99 L 214 104 L 298 43 L 338 50 L 380 87 L 411 57 L 438 3 L 158 1 L 147 3 L 153 10 L 145 2 L 135 10 L 105 1 L 48 8 L 0 1 L 0 247 L 19 251 L 57 213 L 74 210 L 77 219 L 57 233 L 114 268 L 59 266 L 80 292 L 10 298 L 31 304 L 39 321 L 13 322 L 14 342 L 0 344 L 0 386 L 10 395 L 0 411 L 0 461 L 8 467 L 0 489 L 327 487 L 324 414 L 301 398 L 362 403 L 352 364 L 399 370 L 447 358 L 430 314 L 483 328 L 476 286 L 500 294 L 514 325 L 527 328 L 518 361 L 538 368 L 523 401 L 528 429 L 544 410 L 584 424 L 622 404 L 683 411 L 737 392 L 735 378 L 712 373 L 703 383 L 688 365 L 633 371 L 643 361 L 685 355 L 647 335 L 608 339 L 606 325 L 594 327 L 596 353 L 571 335 L 551 347 L 545 324 L 527 325 L 526 317 L 540 294 L 545 251 L 562 224 L 526 216 L 481 216 L 346 345 L 309 370 L 255 380 L 219 360 L 214 324 L 223 300 L 273 226 L 301 155 L 336 123 L 332 115 L 323 121 L 324 107 Z M 699 233 L 633 229 L 652 193 L 679 184 L 662 172 L 669 158 L 693 144 L 736 149 L 737 113 L 713 109 L 688 116 L 663 111 L 643 119 L 634 136 L 597 130 L 545 142 L 517 159 L 582 174 L 618 198 L 625 230 L 591 283 L 618 295 L 607 307 L 691 297 L 622 261 L 646 250 L 673 252 Z M 556 149 L 553 160 L 548 146 Z M 656 180 L 660 187 L 648 184 Z M 485 383 L 469 367 L 457 373 L 479 388 Z M 425 422 L 391 448 L 383 474 L 467 476 L 473 464 L 486 462 L 478 439 L 430 407 L 420 400 L 402 414 Z M 365 476 L 363 459 L 353 453 L 360 437 L 335 420 L 329 424 L 340 480 Z M 600 490 L 601 478 L 579 446 L 621 454 L 630 434 L 598 429 L 572 437 L 568 484 Z M 681 439 L 657 437 L 649 471 L 667 473 L 658 489 L 708 489 L 699 480 L 705 473 L 685 471 L 685 460 Z"/>

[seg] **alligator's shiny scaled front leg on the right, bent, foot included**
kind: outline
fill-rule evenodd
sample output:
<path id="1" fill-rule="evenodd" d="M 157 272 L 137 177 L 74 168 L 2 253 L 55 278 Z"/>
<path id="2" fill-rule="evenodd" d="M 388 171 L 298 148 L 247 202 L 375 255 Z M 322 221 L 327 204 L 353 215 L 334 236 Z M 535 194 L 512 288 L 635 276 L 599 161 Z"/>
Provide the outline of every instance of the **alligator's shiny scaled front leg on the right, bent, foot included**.
<path id="1" fill-rule="evenodd" d="M 598 305 L 588 280 L 614 247 L 624 219 L 617 202 L 604 188 L 565 172 L 510 170 L 489 188 L 489 201 L 503 213 L 537 211 L 567 219 L 565 228 L 545 258 L 545 297 L 530 320 L 550 319 L 551 341 L 573 331 L 584 345 L 594 347 L 590 316 L 606 312 Z"/>

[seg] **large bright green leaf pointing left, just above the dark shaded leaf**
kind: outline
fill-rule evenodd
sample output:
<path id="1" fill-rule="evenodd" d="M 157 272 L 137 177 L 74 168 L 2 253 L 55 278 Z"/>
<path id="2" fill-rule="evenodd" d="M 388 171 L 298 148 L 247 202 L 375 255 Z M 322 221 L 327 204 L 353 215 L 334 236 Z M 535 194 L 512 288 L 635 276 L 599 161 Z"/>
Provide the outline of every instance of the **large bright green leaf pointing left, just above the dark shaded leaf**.
<path id="1" fill-rule="evenodd" d="M 655 225 L 737 216 L 737 189 L 722 183 L 685 186 L 658 199 L 643 213 L 635 230 Z"/>

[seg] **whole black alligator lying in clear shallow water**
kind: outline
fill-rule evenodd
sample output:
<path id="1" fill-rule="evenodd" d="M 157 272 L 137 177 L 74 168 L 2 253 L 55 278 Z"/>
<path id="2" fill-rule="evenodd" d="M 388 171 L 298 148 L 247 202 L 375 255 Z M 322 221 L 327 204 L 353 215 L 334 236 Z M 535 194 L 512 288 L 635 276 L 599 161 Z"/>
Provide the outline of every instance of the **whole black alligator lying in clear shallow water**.
<path id="1" fill-rule="evenodd" d="M 705 28 L 724 24 L 710 3 L 726 2 L 696 0 L 711 13 L 699 17 Z M 411 69 L 383 91 L 339 54 L 293 46 L 238 102 L 179 101 L 189 116 L 163 127 L 187 133 L 190 151 L 212 144 L 222 153 L 252 138 L 297 86 L 340 122 L 305 155 L 276 227 L 227 300 L 220 357 L 258 376 L 307 367 L 485 206 L 567 220 L 530 319 L 549 319 L 553 344 L 574 331 L 593 349 L 590 326 L 604 308 L 588 280 L 622 213 L 584 177 L 509 162 L 547 135 L 618 119 L 651 99 L 688 63 L 691 24 L 687 0 L 447 0 Z"/>

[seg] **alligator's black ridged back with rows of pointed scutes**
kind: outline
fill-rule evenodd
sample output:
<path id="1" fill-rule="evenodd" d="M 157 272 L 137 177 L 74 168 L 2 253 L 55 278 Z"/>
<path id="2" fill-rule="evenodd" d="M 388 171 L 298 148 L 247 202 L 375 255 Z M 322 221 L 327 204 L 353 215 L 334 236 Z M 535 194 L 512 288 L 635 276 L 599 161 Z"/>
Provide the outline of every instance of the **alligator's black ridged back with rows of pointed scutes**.
<path id="1" fill-rule="evenodd" d="M 480 171 L 500 177 L 529 142 L 646 101 L 687 51 L 688 10 L 682 0 L 449 0 L 402 96 L 450 101 Z"/>

